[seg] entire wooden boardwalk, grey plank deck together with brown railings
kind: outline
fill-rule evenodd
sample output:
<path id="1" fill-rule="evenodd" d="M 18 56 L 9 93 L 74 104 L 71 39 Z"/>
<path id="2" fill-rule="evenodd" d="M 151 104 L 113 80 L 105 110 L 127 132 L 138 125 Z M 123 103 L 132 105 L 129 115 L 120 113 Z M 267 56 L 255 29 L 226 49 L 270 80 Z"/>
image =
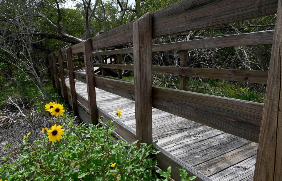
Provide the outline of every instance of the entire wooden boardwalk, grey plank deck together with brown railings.
<path id="1" fill-rule="evenodd" d="M 276 14 L 274 31 L 151 44 L 154 38 L 270 14 Z M 110 119 L 119 108 L 122 118 L 113 123 L 115 132 L 127 141 L 140 140 L 137 145 L 158 140 L 158 167 L 171 166 L 174 180 L 181 180 L 181 167 L 196 175 L 195 181 L 281 180 L 281 19 L 282 0 L 178 1 L 51 53 L 52 83 L 64 102 L 73 105 L 74 115 L 87 123 L 97 124 L 99 116 Z M 116 49 L 128 43 L 133 47 Z M 269 71 L 187 67 L 188 50 L 263 44 L 272 44 Z M 161 51 L 181 51 L 180 67 L 153 65 L 152 52 Z M 122 64 L 123 54 L 132 53 L 133 65 Z M 101 63 L 93 63 L 96 56 Z M 115 57 L 116 64 L 104 62 L 107 57 Z M 82 60 L 84 65 L 73 66 Z M 84 67 L 87 73 L 79 70 Z M 102 75 L 116 69 L 119 79 L 95 75 L 93 67 Z M 121 80 L 122 70 L 134 71 L 134 83 Z M 180 90 L 152 86 L 152 73 L 179 76 Z M 187 76 L 267 84 L 266 100 L 262 104 L 189 92 Z"/>

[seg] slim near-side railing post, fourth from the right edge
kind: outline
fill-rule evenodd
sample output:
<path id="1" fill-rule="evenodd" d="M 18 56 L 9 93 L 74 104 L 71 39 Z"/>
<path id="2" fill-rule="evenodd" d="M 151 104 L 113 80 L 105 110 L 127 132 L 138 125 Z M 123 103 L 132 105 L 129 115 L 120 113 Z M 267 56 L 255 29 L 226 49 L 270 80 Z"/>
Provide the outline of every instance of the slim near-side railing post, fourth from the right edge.
<path id="1" fill-rule="evenodd" d="M 72 111 L 74 116 L 78 116 L 78 106 L 77 106 L 77 97 L 75 90 L 75 82 L 74 82 L 74 66 L 72 63 L 72 52 L 71 47 L 66 48 L 66 61 L 69 70 L 69 88 L 71 89 L 71 103 L 72 103 Z"/>

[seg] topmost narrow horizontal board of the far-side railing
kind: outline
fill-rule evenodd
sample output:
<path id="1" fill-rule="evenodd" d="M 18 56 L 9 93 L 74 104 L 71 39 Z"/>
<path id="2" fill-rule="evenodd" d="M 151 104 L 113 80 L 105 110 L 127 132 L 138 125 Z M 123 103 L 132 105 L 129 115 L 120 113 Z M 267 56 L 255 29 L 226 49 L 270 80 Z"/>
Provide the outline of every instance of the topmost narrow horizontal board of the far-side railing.
<path id="1" fill-rule="evenodd" d="M 269 31 L 258 31 L 253 33 L 218 36 L 214 38 L 203 38 L 196 40 L 178 41 L 172 43 L 162 43 L 162 44 L 152 45 L 152 52 L 272 44 L 273 33 L 274 30 L 269 30 Z M 98 51 L 98 52 L 94 52 L 93 56 L 128 54 L 128 53 L 133 53 L 133 48 Z"/>

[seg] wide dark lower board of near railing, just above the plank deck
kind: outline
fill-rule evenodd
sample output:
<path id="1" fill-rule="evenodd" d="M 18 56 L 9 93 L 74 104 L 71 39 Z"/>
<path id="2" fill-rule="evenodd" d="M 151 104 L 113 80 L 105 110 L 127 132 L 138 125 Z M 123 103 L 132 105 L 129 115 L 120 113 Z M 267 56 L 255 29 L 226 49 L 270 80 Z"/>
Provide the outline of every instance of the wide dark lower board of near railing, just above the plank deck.
<path id="1" fill-rule="evenodd" d="M 84 81 L 85 74 L 75 73 L 75 78 Z M 133 82 L 95 75 L 95 85 L 134 100 Z M 263 103 L 156 86 L 152 101 L 159 110 L 258 143 Z"/>

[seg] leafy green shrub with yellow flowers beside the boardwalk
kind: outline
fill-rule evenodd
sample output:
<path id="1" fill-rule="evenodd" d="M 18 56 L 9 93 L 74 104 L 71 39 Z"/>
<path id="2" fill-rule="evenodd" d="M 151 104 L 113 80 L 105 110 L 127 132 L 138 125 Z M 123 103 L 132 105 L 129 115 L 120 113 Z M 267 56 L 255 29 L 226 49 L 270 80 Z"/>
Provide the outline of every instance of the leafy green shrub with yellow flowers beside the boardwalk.
<path id="1" fill-rule="evenodd" d="M 56 107 L 56 106 L 55 106 Z M 50 111 L 51 112 L 51 111 Z M 163 179 L 157 178 L 152 167 L 157 165 L 151 155 L 158 154 L 153 145 L 118 140 L 114 143 L 111 133 L 115 128 L 112 121 L 99 125 L 80 124 L 72 126 L 73 117 L 63 115 L 48 130 L 42 129 L 46 139 L 32 141 L 29 134 L 24 136 L 18 159 L 12 164 L 5 163 L 0 168 L 3 180 L 168 180 L 167 172 L 157 171 Z M 54 121 L 52 119 L 52 121 Z M 47 133 L 47 134 L 46 134 Z M 55 134 L 54 134 L 55 133 Z M 61 137 L 61 136 L 64 136 Z M 2 158 L 5 159 L 5 158 Z M 183 181 L 196 177 L 187 177 L 181 170 Z M 0 178 L 1 178 L 0 177 Z"/>

